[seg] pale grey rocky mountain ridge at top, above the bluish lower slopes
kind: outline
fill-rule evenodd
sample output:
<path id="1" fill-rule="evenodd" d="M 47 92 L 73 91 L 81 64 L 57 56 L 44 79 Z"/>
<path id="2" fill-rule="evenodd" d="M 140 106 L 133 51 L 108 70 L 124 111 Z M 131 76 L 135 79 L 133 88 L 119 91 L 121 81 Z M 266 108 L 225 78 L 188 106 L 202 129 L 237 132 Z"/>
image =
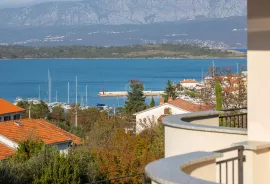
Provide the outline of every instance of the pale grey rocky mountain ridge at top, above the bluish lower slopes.
<path id="1" fill-rule="evenodd" d="M 245 0 L 84 0 L 0 10 L 0 26 L 81 26 L 245 16 Z"/>

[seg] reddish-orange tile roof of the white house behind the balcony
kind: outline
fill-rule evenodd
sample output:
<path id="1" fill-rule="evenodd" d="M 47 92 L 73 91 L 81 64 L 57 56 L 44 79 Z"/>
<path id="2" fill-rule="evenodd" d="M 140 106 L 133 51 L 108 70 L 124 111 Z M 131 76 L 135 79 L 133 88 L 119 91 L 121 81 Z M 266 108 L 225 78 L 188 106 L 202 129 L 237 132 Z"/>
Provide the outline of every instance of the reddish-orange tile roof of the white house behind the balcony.
<path id="1" fill-rule="evenodd" d="M 211 108 L 208 106 L 193 104 L 193 103 L 188 102 L 186 100 L 183 100 L 181 98 L 178 98 L 178 99 L 175 99 L 171 102 L 168 102 L 168 104 L 171 104 L 175 107 L 186 110 L 188 112 L 211 110 Z"/>

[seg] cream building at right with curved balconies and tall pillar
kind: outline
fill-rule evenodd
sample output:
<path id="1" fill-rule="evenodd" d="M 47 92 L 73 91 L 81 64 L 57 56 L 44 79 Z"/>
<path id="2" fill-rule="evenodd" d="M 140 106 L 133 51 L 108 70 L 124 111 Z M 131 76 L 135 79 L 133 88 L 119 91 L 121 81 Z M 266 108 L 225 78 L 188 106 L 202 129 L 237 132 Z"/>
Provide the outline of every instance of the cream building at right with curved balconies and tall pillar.
<path id="1" fill-rule="evenodd" d="M 248 111 L 164 117 L 165 158 L 145 167 L 153 183 L 270 183 L 270 1 L 247 7 Z"/>

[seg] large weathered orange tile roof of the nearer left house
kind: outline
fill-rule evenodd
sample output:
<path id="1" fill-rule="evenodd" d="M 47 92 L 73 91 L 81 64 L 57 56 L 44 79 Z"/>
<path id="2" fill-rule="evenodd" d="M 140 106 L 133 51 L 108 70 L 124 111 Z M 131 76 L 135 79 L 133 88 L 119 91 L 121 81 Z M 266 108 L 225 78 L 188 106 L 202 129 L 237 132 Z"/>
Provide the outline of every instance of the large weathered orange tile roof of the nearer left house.
<path id="1" fill-rule="evenodd" d="M 19 122 L 21 126 L 15 122 Z M 44 119 L 23 119 L 2 122 L 0 123 L 0 134 L 17 143 L 30 136 L 36 136 L 43 140 L 45 144 L 56 144 L 67 141 L 81 144 L 80 138 L 46 122 Z"/>

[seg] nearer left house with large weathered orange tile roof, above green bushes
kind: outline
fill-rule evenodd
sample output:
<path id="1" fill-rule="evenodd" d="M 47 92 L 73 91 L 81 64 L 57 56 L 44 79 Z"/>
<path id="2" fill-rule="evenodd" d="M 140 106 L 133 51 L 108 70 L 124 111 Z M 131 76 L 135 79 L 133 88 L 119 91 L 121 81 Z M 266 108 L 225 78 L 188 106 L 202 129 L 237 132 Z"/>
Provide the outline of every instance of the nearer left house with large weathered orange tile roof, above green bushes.
<path id="1" fill-rule="evenodd" d="M 14 154 L 19 143 L 30 137 L 36 137 L 46 145 L 55 145 L 63 153 L 67 153 L 71 146 L 81 144 L 79 137 L 44 119 L 5 121 L 0 123 L 0 160 Z"/>

